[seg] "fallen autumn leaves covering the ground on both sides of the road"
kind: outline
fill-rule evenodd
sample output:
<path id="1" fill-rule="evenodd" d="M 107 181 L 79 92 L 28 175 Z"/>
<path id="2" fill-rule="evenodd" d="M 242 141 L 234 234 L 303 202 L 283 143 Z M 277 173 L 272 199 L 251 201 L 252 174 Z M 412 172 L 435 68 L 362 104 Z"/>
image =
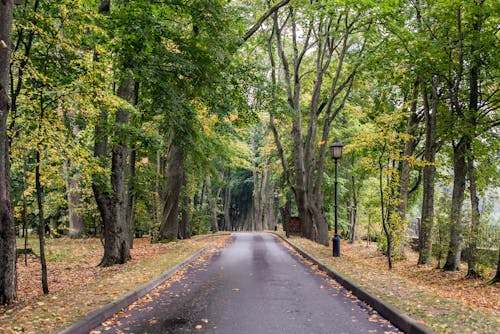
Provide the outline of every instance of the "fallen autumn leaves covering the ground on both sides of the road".
<path id="1" fill-rule="evenodd" d="M 18 259 L 19 301 L 0 309 L 1 333 L 54 333 L 101 308 L 127 291 L 159 276 L 201 248 L 221 246 L 228 237 L 151 244 L 134 241 L 133 260 L 125 265 L 97 267 L 102 255 L 99 239 L 49 240 L 49 287 L 43 296 L 35 256 Z M 374 244 L 342 244 L 342 256 L 302 238 L 294 243 L 363 288 L 382 297 L 438 333 L 495 333 L 499 328 L 500 293 L 486 280 L 465 280 L 462 272 L 443 272 L 432 266 L 399 262 L 392 272 Z M 35 240 L 30 247 L 36 250 Z"/>

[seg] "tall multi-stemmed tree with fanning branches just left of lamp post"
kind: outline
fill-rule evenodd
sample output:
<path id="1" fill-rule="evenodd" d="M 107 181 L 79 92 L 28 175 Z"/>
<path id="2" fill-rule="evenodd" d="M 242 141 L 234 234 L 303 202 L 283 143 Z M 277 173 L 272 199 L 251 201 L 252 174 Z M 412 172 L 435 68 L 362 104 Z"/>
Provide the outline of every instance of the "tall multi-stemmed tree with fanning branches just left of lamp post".
<path id="1" fill-rule="evenodd" d="M 308 11 L 309 7 L 314 10 Z M 350 95 L 361 63 L 366 44 L 363 34 L 371 26 L 366 15 L 370 10 L 365 4 L 297 4 L 289 6 L 284 17 L 278 13 L 273 16 L 272 34 L 276 38 L 288 108 L 293 111 L 293 165 L 282 165 L 287 168 L 284 173 L 289 176 L 304 236 L 325 245 L 329 240 L 322 181 L 330 127 Z M 299 30 L 303 33 L 299 34 Z M 287 43 L 292 50 L 286 49 Z M 307 106 L 306 113 L 303 104 Z M 276 146 L 282 147 L 277 131 L 273 132 Z"/>

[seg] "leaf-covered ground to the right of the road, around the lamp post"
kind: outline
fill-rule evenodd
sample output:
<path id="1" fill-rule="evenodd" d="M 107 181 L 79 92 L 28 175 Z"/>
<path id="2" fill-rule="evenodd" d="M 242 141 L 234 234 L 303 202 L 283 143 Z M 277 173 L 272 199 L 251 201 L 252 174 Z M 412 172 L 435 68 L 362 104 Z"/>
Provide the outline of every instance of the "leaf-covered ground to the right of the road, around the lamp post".
<path id="1" fill-rule="evenodd" d="M 418 254 L 407 252 L 389 271 L 387 258 L 376 243 L 342 240 L 341 257 L 332 248 L 304 238 L 290 240 L 329 268 L 365 290 L 405 311 L 436 333 L 498 333 L 500 328 L 500 284 L 488 279 L 465 278 L 464 269 L 445 272 L 436 264 L 416 265 Z M 494 276 L 493 272 L 488 277 Z"/>

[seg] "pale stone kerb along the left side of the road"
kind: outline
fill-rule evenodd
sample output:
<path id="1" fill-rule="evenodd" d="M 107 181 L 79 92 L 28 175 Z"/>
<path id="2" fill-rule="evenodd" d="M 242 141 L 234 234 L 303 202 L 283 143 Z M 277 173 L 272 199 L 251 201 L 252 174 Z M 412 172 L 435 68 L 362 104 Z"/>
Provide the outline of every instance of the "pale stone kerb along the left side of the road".
<path id="1" fill-rule="evenodd" d="M 67 327 L 66 329 L 63 329 L 62 331 L 59 331 L 58 334 L 88 334 L 89 331 L 99 326 L 101 323 L 106 321 L 106 319 L 110 318 L 113 314 L 119 312 L 121 309 L 132 304 L 137 299 L 148 294 L 154 288 L 160 286 L 163 282 L 172 277 L 180 269 L 182 269 L 184 266 L 188 265 L 189 263 L 199 258 L 210 248 L 211 246 L 203 247 L 198 252 L 194 253 L 181 263 L 178 263 L 175 266 L 171 267 L 170 269 L 164 271 L 160 276 L 153 278 L 149 282 L 146 282 L 143 285 L 140 285 L 139 287 L 125 293 L 118 299 L 103 306 L 102 308 L 89 313 L 88 315 L 81 318 L 79 321 L 75 322 L 71 326 Z"/>

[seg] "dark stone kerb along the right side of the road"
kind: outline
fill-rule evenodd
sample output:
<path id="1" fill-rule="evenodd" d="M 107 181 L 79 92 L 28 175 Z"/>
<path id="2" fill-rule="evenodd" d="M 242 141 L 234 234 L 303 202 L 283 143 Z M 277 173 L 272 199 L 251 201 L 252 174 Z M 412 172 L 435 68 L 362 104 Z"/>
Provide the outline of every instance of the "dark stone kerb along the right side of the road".
<path id="1" fill-rule="evenodd" d="M 389 320 L 393 325 L 399 328 L 401 331 L 408 334 L 435 334 L 429 327 L 419 323 L 417 320 L 411 318 L 405 312 L 396 308 L 395 306 L 389 304 L 385 300 L 365 291 L 356 283 L 352 282 L 345 276 L 339 274 L 333 269 L 328 268 L 321 261 L 317 260 L 314 256 L 309 255 L 304 250 L 302 250 L 299 246 L 294 244 L 292 241 L 286 239 L 285 237 L 271 233 L 272 235 L 280 238 L 287 244 L 289 244 L 293 249 L 295 249 L 302 257 L 308 259 L 313 262 L 321 271 L 324 271 L 331 278 L 340 283 L 344 288 L 351 291 L 353 295 L 358 297 L 360 300 L 365 302 L 366 304 L 373 307 L 375 311 L 377 311 L 381 316 Z"/>

